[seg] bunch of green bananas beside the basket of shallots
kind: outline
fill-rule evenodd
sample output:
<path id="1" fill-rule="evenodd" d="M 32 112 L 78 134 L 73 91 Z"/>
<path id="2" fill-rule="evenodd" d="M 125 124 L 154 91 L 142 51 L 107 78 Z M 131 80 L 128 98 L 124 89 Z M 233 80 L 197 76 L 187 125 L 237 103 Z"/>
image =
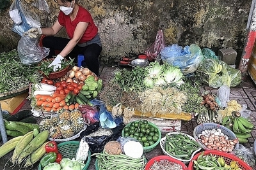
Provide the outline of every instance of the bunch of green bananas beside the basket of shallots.
<path id="1" fill-rule="evenodd" d="M 237 111 L 233 111 L 231 116 L 223 118 L 221 124 L 236 134 L 239 143 L 248 143 L 248 138 L 252 136 L 251 131 L 254 125 L 246 118 L 241 117 Z"/>

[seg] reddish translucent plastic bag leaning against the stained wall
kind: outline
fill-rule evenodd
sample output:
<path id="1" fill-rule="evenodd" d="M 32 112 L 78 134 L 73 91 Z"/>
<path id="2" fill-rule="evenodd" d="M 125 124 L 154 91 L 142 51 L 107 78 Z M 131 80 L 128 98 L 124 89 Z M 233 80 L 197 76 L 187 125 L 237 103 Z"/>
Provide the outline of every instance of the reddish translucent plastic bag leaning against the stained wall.
<path id="1" fill-rule="evenodd" d="M 166 46 L 163 31 L 160 29 L 157 31 L 156 34 L 156 40 L 154 43 L 145 51 L 145 55 L 147 55 L 147 59 L 152 61 L 156 60 L 157 55 L 163 50 L 163 48 Z"/>

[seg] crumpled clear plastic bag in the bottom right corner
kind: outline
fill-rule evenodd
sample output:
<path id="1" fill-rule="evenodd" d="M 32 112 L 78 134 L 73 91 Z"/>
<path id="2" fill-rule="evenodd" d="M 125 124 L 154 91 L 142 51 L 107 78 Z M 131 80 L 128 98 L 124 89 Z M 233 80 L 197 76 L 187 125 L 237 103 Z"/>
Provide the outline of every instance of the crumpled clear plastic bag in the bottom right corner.
<path id="1" fill-rule="evenodd" d="M 239 145 L 239 147 L 232 152 L 232 154 L 242 159 L 249 166 L 255 165 L 255 156 L 253 152 L 253 148 L 246 148 L 243 145 Z"/>

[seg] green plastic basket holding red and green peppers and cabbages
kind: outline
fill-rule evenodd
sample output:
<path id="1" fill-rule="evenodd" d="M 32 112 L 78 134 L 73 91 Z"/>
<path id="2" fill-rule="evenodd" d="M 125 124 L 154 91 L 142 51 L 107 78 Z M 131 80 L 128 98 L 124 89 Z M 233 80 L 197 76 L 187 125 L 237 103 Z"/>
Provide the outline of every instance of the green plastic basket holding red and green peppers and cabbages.
<path id="1" fill-rule="evenodd" d="M 79 147 L 79 141 L 65 141 L 63 143 L 58 144 L 58 150 L 61 153 L 63 158 L 75 158 L 76 157 L 76 152 Z M 91 152 L 90 150 L 88 151 L 88 157 L 87 161 L 85 163 L 85 166 L 81 170 L 86 170 L 88 169 L 89 165 L 91 162 Z M 41 164 L 38 165 L 38 170 L 42 170 Z"/>

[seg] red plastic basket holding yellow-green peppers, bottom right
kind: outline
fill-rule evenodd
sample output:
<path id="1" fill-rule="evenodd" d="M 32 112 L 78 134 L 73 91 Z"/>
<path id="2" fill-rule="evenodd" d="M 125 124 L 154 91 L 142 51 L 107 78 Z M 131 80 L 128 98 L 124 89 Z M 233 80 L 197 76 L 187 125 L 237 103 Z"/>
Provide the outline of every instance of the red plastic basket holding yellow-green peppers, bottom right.
<path id="1" fill-rule="evenodd" d="M 197 160 L 198 156 L 201 154 L 202 152 L 200 153 L 197 153 L 193 159 L 191 160 L 191 162 L 189 162 L 189 165 L 188 165 L 188 169 L 189 170 L 193 170 L 194 169 L 194 163 L 193 163 L 193 160 Z M 230 164 L 230 162 L 232 160 L 235 160 L 237 161 L 238 163 L 238 166 L 242 169 L 242 170 L 253 170 L 252 167 L 248 166 L 248 164 L 246 164 L 246 162 L 244 162 L 243 160 L 239 159 L 238 157 L 230 154 L 230 153 L 226 153 L 226 152 L 221 152 L 221 151 L 218 151 L 218 150 L 205 150 L 204 151 L 204 155 L 209 155 L 209 154 L 212 154 L 213 156 L 216 155 L 216 157 L 223 157 L 223 159 L 225 160 L 226 164 Z"/>

